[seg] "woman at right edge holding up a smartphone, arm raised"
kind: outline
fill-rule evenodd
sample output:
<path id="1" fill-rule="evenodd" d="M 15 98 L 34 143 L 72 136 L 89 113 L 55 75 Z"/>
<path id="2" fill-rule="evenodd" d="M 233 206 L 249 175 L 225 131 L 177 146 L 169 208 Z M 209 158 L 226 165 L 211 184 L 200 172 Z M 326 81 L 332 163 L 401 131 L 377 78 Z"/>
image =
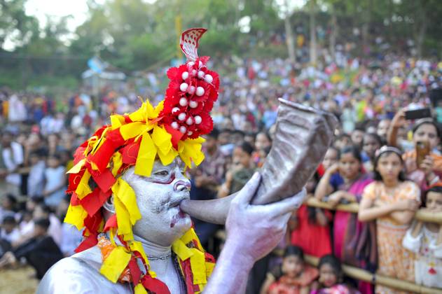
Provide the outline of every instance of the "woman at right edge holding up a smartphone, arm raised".
<path id="1" fill-rule="evenodd" d="M 401 109 L 392 120 L 388 141 L 397 146 L 397 132 L 406 125 L 406 109 Z M 442 176 L 442 156 L 438 152 L 441 133 L 432 118 L 421 118 L 413 125 L 413 149 L 403 154 L 406 176 L 427 190 Z"/>

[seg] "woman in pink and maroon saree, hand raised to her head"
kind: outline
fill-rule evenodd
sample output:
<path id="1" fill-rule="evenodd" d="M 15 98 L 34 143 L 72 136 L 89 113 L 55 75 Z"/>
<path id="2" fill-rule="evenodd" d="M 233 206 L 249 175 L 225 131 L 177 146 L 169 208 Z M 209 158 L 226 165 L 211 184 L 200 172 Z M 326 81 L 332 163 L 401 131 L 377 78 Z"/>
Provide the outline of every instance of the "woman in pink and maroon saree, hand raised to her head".
<path id="1" fill-rule="evenodd" d="M 340 182 L 337 180 L 338 175 L 343 179 Z M 340 151 L 339 162 L 327 169 L 322 176 L 315 197 L 333 207 L 359 202 L 364 188 L 371 182 L 371 175 L 363 172 L 359 149 L 345 147 Z M 374 226 L 357 221 L 356 214 L 336 211 L 333 218 L 334 255 L 344 263 L 372 270 L 376 262 L 373 229 Z M 361 293 L 371 293 L 371 286 L 368 283 L 359 283 L 359 290 Z"/>

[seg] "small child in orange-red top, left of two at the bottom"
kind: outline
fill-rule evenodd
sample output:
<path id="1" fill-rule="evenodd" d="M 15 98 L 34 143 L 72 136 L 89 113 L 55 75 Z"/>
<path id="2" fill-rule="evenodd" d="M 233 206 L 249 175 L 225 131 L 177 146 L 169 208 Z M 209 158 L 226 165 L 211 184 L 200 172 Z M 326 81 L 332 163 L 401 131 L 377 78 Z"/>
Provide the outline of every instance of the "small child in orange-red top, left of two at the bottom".
<path id="1" fill-rule="evenodd" d="M 318 271 L 305 265 L 304 253 L 298 246 L 289 246 L 284 252 L 282 265 L 267 274 L 261 294 L 309 293 L 315 286 Z"/>

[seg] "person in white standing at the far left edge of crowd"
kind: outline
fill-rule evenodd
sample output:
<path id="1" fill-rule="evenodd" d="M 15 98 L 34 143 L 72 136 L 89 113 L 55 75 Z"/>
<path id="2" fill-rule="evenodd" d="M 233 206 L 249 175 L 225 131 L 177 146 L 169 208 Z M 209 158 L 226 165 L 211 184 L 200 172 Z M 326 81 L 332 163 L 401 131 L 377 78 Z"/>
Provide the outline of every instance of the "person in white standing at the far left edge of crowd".
<path id="1" fill-rule="evenodd" d="M 6 192 L 15 196 L 20 195 L 21 176 L 16 173 L 23 163 L 23 148 L 17 142 L 13 142 L 13 135 L 5 132 L 1 137 L 1 156 L 6 166 Z"/>

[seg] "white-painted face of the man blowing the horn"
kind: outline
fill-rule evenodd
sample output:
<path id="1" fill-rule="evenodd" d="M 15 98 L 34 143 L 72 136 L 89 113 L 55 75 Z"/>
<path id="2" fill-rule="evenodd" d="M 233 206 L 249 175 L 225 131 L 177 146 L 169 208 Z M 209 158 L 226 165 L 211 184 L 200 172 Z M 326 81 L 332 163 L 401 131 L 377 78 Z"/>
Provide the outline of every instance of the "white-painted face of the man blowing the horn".
<path id="1" fill-rule="evenodd" d="M 141 219 L 133 232 L 147 241 L 170 246 L 191 228 L 191 217 L 179 208 L 181 200 L 189 199 L 191 182 L 184 177 L 184 164 L 174 160 L 164 166 L 159 160 L 153 165 L 151 176 L 134 174 L 134 167 L 123 174 L 137 195 Z"/>

